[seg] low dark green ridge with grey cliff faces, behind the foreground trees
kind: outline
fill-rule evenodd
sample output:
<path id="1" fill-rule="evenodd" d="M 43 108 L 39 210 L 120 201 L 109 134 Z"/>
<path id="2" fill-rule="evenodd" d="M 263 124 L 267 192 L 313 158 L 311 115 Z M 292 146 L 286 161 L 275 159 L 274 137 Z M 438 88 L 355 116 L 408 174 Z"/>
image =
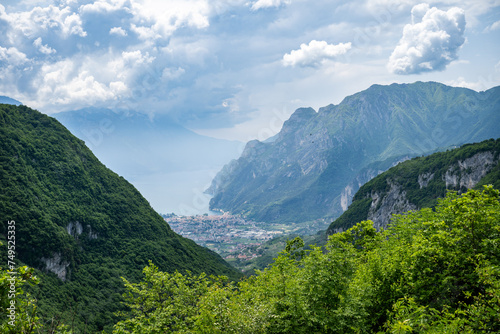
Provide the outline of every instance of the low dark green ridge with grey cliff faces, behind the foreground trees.
<path id="1" fill-rule="evenodd" d="M 448 190 L 463 193 L 486 184 L 500 189 L 499 161 L 500 139 L 490 139 L 402 162 L 363 185 L 327 234 L 363 220 L 386 227 L 393 214 L 436 206 Z"/>

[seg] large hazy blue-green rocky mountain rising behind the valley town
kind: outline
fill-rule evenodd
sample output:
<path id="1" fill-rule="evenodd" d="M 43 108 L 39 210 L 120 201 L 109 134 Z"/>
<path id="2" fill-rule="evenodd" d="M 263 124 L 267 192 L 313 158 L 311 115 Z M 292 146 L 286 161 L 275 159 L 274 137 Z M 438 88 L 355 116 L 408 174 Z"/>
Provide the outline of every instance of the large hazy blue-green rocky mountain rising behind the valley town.
<path id="1" fill-rule="evenodd" d="M 207 192 L 211 208 L 272 222 L 333 219 L 396 163 L 500 137 L 500 87 L 373 85 L 338 105 L 295 111 L 272 142 L 251 141 Z"/>

